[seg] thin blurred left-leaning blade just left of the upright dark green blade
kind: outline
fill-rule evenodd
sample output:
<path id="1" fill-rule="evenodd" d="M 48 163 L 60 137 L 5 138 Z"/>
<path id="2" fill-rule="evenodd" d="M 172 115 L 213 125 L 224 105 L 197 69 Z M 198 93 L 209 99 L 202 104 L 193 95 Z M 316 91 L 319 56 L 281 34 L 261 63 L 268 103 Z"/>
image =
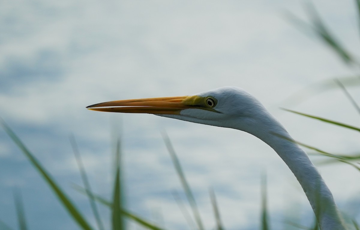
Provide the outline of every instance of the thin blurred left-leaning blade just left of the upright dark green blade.
<path id="1" fill-rule="evenodd" d="M 98 212 L 98 208 L 96 207 L 96 203 L 95 203 L 94 198 L 93 198 L 93 192 L 91 190 L 89 180 L 87 179 L 87 176 L 86 176 L 85 167 L 84 167 L 84 164 L 82 164 L 81 155 L 80 155 L 79 149 L 77 147 L 75 137 L 73 135 L 70 135 L 69 139 L 70 139 L 70 143 L 71 143 L 71 146 L 72 146 L 72 150 L 73 150 L 74 155 L 75 155 L 77 166 L 78 166 L 78 168 L 80 170 L 82 183 L 84 183 L 84 187 L 86 188 L 86 191 L 89 193 L 87 195 L 89 197 L 90 207 L 91 207 L 91 210 L 93 210 L 93 214 L 94 214 L 94 217 L 95 217 L 95 220 L 96 220 L 96 224 L 98 225 L 100 230 L 104 230 L 104 226 L 103 226 L 103 223 L 101 221 L 101 218 L 100 218 L 100 215 L 99 215 L 99 212 Z"/>

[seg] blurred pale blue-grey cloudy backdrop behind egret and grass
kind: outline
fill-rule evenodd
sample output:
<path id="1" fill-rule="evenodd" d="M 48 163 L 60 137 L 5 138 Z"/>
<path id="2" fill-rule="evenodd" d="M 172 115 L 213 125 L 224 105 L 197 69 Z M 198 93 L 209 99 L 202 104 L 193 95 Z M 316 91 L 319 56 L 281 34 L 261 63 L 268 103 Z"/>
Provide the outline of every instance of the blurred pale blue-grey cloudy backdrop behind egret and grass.
<path id="1" fill-rule="evenodd" d="M 313 1 L 341 43 L 357 54 L 355 1 Z M 95 226 L 69 135 L 78 142 L 93 190 L 111 197 L 112 132 L 121 126 L 126 206 L 168 229 L 187 229 L 172 191 L 184 197 L 161 137 L 168 133 L 207 229 L 212 187 L 226 229 L 257 229 L 260 176 L 266 171 L 271 225 L 310 225 L 311 208 L 291 171 L 259 139 L 238 130 L 148 114 L 111 114 L 86 106 L 112 100 L 184 96 L 238 86 L 257 97 L 303 143 L 334 153 L 360 149 L 358 134 L 279 109 L 347 124 L 359 115 L 340 90 L 301 104 L 285 99 L 316 82 L 354 75 L 334 53 L 286 17 L 307 20 L 305 1 L 14 0 L 0 7 L 0 116 Z M 359 98 L 359 88 L 348 88 Z M 117 125 L 115 125 L 117 124 Z M 312 157 L 316 161 L 317 158 Z M 360 174 L 319 167 L 341 209 L 359 203 Z M 20 188 L 29 229 L 78 229 L 48 185 L 0 130 L 0 220 L 17 229 Z M 350 210 L 351 211 L 351 210 Z M 109 227 L 109 212 L 100 208 Z M 294 216 L 296 218 L 294 218 Z M 134 224 L 129 229 L 139 229 Z"/>

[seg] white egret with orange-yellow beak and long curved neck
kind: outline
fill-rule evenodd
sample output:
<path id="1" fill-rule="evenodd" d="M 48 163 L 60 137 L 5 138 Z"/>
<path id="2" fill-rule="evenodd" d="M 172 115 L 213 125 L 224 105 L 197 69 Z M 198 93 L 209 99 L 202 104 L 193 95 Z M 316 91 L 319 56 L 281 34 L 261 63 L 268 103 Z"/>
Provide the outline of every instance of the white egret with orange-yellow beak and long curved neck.
<path id="1" fill-rule="evenodd" d="M 148 113 L 207 125 L 239 129 L 264 141 L 282 158 L 301 184 L 321 230 L 345 230 L 329 188 L 306 153 L 252 95 L 222 87 L 192 96 L 120 100 L 87 106 L 105 112 Z"/>

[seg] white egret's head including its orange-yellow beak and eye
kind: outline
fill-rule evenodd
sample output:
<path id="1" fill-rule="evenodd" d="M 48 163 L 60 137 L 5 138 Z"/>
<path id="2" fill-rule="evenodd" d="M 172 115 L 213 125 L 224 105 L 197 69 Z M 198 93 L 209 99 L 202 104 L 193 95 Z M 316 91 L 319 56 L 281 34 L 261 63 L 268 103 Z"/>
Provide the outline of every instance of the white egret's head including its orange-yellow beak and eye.
<path id="1" fill-rule="evenodd" d="M 249 125 L 266 111 L 248 92 L 230 86 L 190 96 L 109 101 L 87 108 L 106 112 L 149 113 L 246 132 Z"/>

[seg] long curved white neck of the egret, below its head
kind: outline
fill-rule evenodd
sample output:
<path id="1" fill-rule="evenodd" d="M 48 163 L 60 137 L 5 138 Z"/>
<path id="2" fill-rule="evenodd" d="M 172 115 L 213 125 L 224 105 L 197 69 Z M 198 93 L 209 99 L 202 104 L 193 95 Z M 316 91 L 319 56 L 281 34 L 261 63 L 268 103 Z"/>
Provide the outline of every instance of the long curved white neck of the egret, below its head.
<path id="1" fill-rule="evenodd" d="M 249 133 L 273 148 L 293 172 L 314 210 L 320 229 L 345 230 L 333 195 L 318 170 L 307 154 L 292 141 L 283 126 L 272 115 L 267 115 L 270 117 L 265 119 L 265 123 L 262 119 L 261 126 L 258 126 L 264 129 L 252 129 Z"/>

